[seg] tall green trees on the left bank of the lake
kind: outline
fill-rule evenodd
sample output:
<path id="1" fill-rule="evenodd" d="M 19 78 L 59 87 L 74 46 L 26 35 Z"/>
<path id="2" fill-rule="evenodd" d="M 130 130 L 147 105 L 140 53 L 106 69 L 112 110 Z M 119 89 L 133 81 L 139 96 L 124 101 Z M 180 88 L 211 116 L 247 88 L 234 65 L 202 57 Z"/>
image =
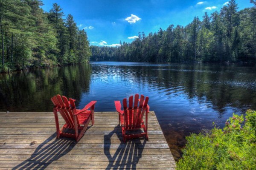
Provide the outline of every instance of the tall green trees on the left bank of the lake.
<path id="1" fill-rule="evenodd" d="M 41 0 L 0 0 L 0 72 L 89 60 L 87 34 L 73 16 L 64 20 L 56 3 L 49 12 L 42 5 Z"/>

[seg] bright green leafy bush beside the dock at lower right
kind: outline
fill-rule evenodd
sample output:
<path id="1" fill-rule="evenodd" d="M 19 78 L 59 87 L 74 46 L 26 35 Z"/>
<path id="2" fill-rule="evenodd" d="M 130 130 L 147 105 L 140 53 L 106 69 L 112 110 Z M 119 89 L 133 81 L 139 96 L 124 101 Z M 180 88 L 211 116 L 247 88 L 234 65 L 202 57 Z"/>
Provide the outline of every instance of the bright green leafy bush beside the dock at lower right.
<path id="1" fill-rule="evenodd" d="M 256 170 L 256 111 L 236 115 L 225 127 L 191 134 L 177 170 Z"/>

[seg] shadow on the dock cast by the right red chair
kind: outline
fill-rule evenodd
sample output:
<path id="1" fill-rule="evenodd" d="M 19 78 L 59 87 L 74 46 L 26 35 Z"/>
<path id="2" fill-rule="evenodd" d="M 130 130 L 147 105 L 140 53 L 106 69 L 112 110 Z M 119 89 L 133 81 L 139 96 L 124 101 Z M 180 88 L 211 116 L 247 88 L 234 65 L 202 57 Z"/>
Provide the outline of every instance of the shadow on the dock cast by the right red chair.
<path id="1" fill-rule="evenodd" d="M 108 167 L 109 169 L 136 169 L 137 163 L 142 157 L 142 152 L 146 144 L 146 139 L 143 143 L 140 139 L 131 139 L 123 142 L 122 133 L 120 126 L 117 125 L 111 133 L 104 135 L 104 153 L 108 157 Z M 111 137 L 116 133 L 121 144 L 119 144 L 116 152 L 113 154 L 111 152 Z M 113 144 L 115 145 L 115 144 Z M 113 147 L 114 148 L 114 147 Z M 113 155 L 113 156 L 112 156 Z"/>

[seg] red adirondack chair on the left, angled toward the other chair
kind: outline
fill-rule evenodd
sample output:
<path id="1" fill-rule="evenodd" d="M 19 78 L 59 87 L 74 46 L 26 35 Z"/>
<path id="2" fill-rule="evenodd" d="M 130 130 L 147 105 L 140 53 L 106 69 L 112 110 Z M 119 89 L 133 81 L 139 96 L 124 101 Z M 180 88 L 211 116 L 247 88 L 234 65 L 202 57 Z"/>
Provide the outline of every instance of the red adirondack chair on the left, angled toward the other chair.
<path id="1" fill-rule="evenodd" d="M 70 137 L 76 139 L 78 142 L 84 135 L 89 122 L 92 121 L 94 125 L 94 106 L 97 101 L 91 101 L 83 109 L 76 109 L 75 99 L 67 99 L 67 97 L 61 95 L 53 96 L 51 98 L 54 108 L 53 113 L 55 116 L 55 124 L 57 130 L 57 139 L 61 136 Z M 88 110 L 90 108 L 90 110 Z M 65 120 L 63 127 L 59 128 L 58 113 Z M 75 133 L 64 132 L 67 129 L 75 130 Z"/>

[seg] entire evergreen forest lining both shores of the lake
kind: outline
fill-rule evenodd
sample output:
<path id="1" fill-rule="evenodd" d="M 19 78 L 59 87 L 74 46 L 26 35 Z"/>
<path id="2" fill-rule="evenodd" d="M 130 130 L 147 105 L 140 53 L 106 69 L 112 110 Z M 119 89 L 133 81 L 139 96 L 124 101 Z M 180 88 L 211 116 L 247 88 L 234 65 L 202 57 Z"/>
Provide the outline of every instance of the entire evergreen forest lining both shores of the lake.
<path id="1" fill-rule="evenodd" d="M 90 61 L 256 62 L 256 0 L 238 10 L 230 0 L 221 10 L 194 17 L 187 26 L 139 32 L 118 47 L 95 46 L 71 14 L 42 0 L 0 0 L 0 72 Z"/>

